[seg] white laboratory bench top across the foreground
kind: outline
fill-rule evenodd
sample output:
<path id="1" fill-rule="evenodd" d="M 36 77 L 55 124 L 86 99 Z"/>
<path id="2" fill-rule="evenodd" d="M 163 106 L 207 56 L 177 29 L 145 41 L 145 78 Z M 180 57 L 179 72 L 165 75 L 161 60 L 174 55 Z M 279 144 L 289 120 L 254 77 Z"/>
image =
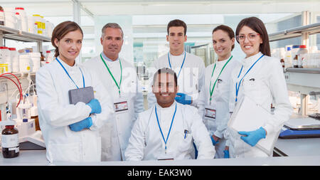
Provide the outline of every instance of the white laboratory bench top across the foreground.
<path id="1" fill-rule="evenodd" d="M 307 154 L 307 152 L 305 152 Z M 46 150 L 23 150 L 13 159 L 0 156 L 0 166 L 319 166 L 320 155 L 292 157 L 255 157 L 237 159 L 188 159 L 142 162 L 55 162 L 46 159 Z"/>

